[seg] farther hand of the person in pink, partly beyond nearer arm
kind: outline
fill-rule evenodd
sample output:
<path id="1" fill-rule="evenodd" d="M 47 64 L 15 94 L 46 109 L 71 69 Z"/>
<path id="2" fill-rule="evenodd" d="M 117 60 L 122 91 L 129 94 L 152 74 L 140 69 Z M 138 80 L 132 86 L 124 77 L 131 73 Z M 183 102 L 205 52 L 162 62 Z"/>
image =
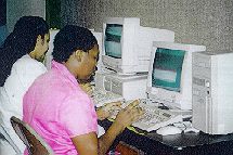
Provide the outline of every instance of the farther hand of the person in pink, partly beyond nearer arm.
<path id="1" fill-rule="evenodd" d="M 107 103 L 104 106 L 101 106 L 96 109 L 98 119 L 103 120 L 105 118 L 108 118 L 113 113 L 119 112 L 121 109 L 121 103 L 120 102 L 112 102 Z"/>

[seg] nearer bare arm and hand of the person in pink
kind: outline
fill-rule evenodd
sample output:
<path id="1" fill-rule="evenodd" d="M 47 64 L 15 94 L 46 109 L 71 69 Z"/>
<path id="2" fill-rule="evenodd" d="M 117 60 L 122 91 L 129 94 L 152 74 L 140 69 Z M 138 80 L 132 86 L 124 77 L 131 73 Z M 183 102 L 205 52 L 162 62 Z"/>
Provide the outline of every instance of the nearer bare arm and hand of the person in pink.
<path id="1" fill-rule="evenodd" d="M 137 107 L 138 104 L 139 102 L 134 101 L 129 106 L 121 109 L 113 125 L 101 138 L 98 139 L 95 132 L 72 138 L 77 152 L 80 155 L 105 155 L 116 137 L 120 134 L 127 126 L 130 126 L 143 115 L 143 112 Z"/>

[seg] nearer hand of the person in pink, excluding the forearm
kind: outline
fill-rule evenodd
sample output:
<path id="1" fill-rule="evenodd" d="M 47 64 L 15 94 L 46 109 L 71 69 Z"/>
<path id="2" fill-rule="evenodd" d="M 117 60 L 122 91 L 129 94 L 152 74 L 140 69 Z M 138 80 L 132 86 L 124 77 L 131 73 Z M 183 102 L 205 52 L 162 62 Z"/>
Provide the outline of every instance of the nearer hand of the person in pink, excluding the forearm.
<path id="1" fill-rule="evenodd" d="M 121 131 L 132 122 L 137 121 L 140 116 L 144 114 L 144 112 L 138 107 L 139 103 L 140 102 L 138 100 L 133 101 L 124 109 L 121 109 L 116 116 L 114 124 L 117 124 L 119 127 L 121 127 Z"/>

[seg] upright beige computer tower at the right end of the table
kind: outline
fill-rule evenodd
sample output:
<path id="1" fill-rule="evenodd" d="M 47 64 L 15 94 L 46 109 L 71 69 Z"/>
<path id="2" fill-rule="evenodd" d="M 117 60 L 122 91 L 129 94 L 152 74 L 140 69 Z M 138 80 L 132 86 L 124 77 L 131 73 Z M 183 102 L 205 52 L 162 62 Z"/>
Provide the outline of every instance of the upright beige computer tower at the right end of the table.
<path id="1" fill-rule="evenodd" d="M 193 127 L 210 134 L 233 132 L 233 53 L 193 55 Z"/>

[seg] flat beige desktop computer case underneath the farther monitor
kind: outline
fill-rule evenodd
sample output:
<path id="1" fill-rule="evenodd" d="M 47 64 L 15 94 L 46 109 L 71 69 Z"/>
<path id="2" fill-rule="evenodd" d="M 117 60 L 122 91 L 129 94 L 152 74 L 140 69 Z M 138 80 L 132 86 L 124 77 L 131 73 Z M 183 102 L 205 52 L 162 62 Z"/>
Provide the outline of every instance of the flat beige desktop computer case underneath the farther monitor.
<path id="1" fill-rule="evenodd" d="M 96 72 L 95 87 L 121 95 L 126 101 L 146 99 L 147 74 L 118 75 L 115 72 Z"/>

